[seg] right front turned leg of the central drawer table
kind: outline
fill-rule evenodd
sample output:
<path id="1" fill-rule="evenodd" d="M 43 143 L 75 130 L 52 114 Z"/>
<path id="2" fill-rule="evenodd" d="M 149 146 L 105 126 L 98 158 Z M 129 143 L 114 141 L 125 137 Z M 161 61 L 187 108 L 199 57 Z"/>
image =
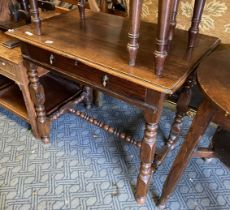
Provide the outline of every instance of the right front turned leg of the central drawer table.
<path id="1" fill-rule="evenodd" d="M 156 106 L 156 110 L 145 110 L 146 127 L 144 138 L 141 144 L 141 165 L 137 179 L 137 186 L 135 192 L 136 201 L 143 204 L 148 192 L 148 186 L 152 177 L 152 162 L 156 150 L 157 129 L 160 115 L 162 112 L 165 94 L 151 92 L 147 94 L 147 100 L 151 101 Z"/>

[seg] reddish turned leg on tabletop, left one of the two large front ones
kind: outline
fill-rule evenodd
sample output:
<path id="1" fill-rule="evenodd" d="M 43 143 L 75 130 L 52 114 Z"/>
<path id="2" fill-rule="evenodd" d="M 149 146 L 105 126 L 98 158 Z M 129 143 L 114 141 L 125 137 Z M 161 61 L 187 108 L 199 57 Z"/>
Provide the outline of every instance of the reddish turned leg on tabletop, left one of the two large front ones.
<path id="1" fill-rule="evenodd" d="M 139 48 L 138 38 L 140 30 L 140 19 L 141 19 L 141 10 L 142 10 L 143 0 L 132 0 L 130 1 L 130 30 L 129 30 L 129 65 L 135 66 L 137 51 Z"/>

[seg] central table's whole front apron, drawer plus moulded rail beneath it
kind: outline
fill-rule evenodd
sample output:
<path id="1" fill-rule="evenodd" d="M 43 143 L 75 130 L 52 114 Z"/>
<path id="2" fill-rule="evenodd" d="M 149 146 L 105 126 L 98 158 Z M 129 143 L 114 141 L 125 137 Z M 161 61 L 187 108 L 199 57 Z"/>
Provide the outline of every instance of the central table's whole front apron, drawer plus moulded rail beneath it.
<path id="1" fill-rule="evenodd" d="M 98 89 L 139 108 L 156 110 L 154 104 L 146 101 L 147 92 L 154 90 L 35 46 L 23 44 L 22 53 L 25 60 L 70 80 Z"/>

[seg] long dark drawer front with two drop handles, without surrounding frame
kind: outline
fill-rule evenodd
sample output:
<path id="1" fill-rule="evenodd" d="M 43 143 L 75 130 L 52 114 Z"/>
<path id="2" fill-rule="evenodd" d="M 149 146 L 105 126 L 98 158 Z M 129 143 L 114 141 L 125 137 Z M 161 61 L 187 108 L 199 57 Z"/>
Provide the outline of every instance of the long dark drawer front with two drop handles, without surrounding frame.
<path id="1" fill-rule="evenodd" d="M 145 87 L 89 67 L 76 60 L 30 45 L 26 47 L 26 50 L 23 50 L 23 54 L 38 61 L 45 67 L 65 74 L 74 80 L 102 89 L 105 92 L 112 92 L 116 95 L 142 102 L 145 100 Z"/>

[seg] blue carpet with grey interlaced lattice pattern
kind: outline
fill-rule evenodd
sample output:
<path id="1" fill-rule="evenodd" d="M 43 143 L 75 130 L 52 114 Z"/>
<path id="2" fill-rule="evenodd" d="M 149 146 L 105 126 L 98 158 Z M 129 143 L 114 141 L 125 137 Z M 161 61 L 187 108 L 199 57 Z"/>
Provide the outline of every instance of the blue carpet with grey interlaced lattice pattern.
<path id="1" fill-rule="evenodd" d="M 142 136 L 143 115 L 135 107 L 106 97 L 102 108 L 88 112 L 114 126 L 122 125 L 137 138 Z M 173 116 L 170 110 L 163 111 L 158 146 L 168 135 Z M 190 123 L 186 118 L 180 142 Z M 213 132 L 210 127 L 203 144 Z M 155 200 L 176 154 L 154 175 L 147 202 L 139 206 L 133 196 L 139 151 L 99 128 L 66 114 L 53 123 L 52 142 L 44 145 L 33 138 L 25 122 L 1 109 L 0 135 L 1 210 L 157 209 Z M 230 209 L 229 169 L 216 159 L 193 159 L 167 208 Z"/>

